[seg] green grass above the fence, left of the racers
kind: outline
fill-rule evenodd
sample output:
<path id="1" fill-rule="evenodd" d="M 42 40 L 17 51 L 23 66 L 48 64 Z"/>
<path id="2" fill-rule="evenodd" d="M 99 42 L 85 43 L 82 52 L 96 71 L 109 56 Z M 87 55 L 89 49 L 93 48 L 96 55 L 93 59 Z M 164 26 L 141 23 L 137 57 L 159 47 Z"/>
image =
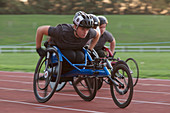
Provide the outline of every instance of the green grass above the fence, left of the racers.
<path id="1" fill-rule="evenodd" d="M 0 15 L 0 45 L 35 42 L 35 34 L 39 26 L 70 23 L 68 20 L 71 22 L 72 16 Z"/>

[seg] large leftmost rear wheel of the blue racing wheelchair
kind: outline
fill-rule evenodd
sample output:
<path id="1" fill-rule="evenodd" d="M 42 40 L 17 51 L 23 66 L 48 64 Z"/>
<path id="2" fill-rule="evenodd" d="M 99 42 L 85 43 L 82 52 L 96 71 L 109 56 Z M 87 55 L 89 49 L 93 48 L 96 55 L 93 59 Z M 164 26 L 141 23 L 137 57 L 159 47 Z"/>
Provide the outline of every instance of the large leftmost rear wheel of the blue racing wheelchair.
<path id="1" fill-rule="evenodd" d="M 56 87 L 60 81 L 62 62 L 60 62 L 58 52 L 50 47 L 47 48 L 47 55 L 55 54 L 58 59 L 57 65 L 53 65 L 51 57 L 40 57 L 33 81 L 34 95 L 38 102 L 44 103 L 47 102 L 52 95 L 54 94 Z M 40 79 L 40 78 L 44 79 Z M 50 82 L 54 82 L 54 87 L 50 87 Z"/>

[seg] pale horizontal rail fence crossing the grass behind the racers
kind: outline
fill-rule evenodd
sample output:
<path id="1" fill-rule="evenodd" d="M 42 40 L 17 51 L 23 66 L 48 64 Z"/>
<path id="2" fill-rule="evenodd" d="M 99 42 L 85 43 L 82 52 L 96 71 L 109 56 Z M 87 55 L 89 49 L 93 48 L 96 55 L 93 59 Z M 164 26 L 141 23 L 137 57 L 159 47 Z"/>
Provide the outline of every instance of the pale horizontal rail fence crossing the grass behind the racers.
<path id="1" fill-rule="evenodd" d="M 170 46 L 116 46 L 117 52 L 170 52 Z M 36 52 L 35 46 L 0 46 L 0 53 Z"/>

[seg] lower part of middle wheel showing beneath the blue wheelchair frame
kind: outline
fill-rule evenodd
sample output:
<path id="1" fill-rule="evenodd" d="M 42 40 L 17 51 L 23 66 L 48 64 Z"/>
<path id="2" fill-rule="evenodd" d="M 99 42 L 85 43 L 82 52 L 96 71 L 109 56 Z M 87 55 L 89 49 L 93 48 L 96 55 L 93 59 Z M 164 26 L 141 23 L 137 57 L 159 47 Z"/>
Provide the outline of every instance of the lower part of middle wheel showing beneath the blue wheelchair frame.
<path id="1" fill-rule="evenodd" d="M 96 96 L 97 78 L 89 76 L 74 77 L 73 87 L 83 100 L 91 101 Z"/>

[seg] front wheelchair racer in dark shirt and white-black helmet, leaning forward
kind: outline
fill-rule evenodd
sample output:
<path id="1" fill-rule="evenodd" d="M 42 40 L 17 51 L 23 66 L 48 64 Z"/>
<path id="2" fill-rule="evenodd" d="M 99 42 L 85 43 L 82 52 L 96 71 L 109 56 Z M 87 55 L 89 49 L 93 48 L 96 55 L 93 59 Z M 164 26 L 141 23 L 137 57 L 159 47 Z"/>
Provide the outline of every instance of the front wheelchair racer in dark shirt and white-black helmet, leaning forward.
<path id="1" fill-rule="evenodd" d="M 97 30 L 92 29 L 93 18 L 83 11 L 78 11 L 73 24 L 59 24 L 56 27 L 40 26 L 36 32 L 36 51 L 39 56 L 45 56 L 46 51 L 41 48 L 41 42 L 44 35 L 50 36 L 49 45 L 57 46 L 62 54 L 72 63 L 83 63 L 84 52 L 82 48 L 88 40 L 92 39 L 88 51 L 96 45 L 99 39 Z M 62 74 L 71 71 L 73 67 L 64 59 L 62 65 Z"/>

